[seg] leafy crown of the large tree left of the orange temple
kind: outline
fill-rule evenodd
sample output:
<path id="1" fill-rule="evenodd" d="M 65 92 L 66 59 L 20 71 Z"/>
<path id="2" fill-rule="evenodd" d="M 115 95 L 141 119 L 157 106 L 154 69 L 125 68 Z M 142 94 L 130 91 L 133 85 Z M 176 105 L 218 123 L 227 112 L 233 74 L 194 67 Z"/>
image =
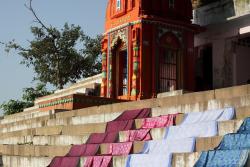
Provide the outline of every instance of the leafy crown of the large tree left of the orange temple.
<path id="1" fill-rule="evenodd" d="M 68 82 L 101 72 L 101 37 L 90 38 L 79 26 L 31 27 L 34 39 L 27 48 L 14 40 L 6 44 L 6 51 L 18 51 L 22 64 L 33 67 L 34 79 L 63 88 Z"/>

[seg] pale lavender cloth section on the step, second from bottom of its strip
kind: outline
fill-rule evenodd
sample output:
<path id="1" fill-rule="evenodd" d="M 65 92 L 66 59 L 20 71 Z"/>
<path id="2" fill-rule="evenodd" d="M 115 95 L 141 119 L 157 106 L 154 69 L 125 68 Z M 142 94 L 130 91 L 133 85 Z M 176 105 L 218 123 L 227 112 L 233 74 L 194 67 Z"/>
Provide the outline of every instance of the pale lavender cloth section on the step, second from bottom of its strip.
<path id="1" fill-rule="evenodd" d="M 178 140 L 152 140 L 144 143 L 142 154 L 166 154 L 193 152 L 195 138 Z"/>

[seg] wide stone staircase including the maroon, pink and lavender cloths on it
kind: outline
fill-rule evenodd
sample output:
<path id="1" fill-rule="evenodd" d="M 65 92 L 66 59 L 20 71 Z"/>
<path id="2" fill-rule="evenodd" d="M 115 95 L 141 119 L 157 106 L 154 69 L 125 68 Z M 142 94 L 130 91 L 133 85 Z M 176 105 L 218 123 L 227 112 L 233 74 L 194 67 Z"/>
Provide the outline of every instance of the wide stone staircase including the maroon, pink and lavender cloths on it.
<path id="1" fill-rule="evenodd" d="M 1 120 L 0 164 L 192 167 L 209 150 L 220 152 L 248 117 L 250 85 L 60 113 L 33 109 Z"/>

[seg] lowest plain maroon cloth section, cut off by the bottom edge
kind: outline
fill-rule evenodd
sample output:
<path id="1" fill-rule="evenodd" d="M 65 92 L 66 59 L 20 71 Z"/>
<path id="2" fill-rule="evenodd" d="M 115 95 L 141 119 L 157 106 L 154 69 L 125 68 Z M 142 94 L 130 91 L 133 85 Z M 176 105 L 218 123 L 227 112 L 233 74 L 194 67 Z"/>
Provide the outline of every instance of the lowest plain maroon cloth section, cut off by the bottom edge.
<path id="1" fill-rule="evenodd" d="M 55 157 L 48 167 L 78 167 L 80 157 Z"/>

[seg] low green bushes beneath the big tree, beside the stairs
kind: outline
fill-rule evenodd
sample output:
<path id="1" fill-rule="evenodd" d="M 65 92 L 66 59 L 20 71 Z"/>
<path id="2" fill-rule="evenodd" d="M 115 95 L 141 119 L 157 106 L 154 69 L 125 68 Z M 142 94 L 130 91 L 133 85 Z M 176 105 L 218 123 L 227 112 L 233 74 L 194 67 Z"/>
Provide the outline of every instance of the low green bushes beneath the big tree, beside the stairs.
<path id="1" fill-rule="evenodd" d="M 34 106 L 34 101 L 38 97 L 49 95 L 50 92 L 46 89 L 45 84 L 38 84 L 35 88 L 23 89 L 22 100 L 9 100 L 0 105 L 0 108 L 4 110 L 4 115 L 11 115 L 19 112 L 23 112 L 23 109 Z"/>

